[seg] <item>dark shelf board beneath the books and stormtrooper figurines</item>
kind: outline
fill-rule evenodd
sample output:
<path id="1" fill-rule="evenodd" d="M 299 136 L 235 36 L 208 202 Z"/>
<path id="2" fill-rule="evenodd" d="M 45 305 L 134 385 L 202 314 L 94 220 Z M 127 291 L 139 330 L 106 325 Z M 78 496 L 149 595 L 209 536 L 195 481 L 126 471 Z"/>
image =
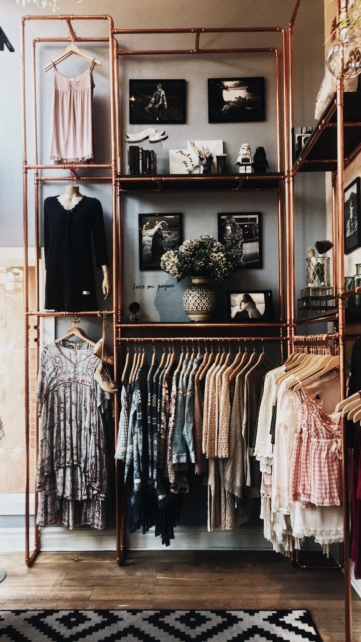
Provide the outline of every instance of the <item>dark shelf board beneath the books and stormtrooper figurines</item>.
<path id="1" fill-rule="evenodd" d="M 213 174 L 211 176 L 187 174 L 162 174 L 155 176 L 118 175 L 121 190 L 131 191 L 257 191 L 279 189 L 285 175 L 265 174 Z"/>

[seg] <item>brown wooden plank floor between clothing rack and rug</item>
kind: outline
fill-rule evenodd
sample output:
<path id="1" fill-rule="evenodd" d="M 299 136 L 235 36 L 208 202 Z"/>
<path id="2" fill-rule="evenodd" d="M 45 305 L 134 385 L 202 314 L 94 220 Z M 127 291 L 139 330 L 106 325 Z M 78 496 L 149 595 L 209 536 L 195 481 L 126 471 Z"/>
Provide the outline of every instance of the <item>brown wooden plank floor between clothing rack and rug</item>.
<path id="1" fill-rule="evenodd" d="M 344 641 L 341 571 L 303 571 L 268 552 L 146 551 L 0 555 L 0 609 L 308 609 L 324 642 Z M 353 593 L 354 642 L 361 600 Z"/>

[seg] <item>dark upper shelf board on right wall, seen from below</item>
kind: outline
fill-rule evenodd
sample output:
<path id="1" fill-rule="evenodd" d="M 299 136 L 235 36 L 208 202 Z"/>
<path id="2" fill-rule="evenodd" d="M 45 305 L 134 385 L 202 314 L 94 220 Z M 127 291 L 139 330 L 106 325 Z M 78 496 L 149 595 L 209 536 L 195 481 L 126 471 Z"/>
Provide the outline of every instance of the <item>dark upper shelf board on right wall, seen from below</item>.
<path id="1" fill-rule="evenodd" d="M 292 174 L 297 171 L 335 171 L 337 169 L 337 107 L 334 94 L 324 110 L 299 157 Z M 361 94 L 344 93 L 344 159 L 345 162 L 361 144 Z"/>

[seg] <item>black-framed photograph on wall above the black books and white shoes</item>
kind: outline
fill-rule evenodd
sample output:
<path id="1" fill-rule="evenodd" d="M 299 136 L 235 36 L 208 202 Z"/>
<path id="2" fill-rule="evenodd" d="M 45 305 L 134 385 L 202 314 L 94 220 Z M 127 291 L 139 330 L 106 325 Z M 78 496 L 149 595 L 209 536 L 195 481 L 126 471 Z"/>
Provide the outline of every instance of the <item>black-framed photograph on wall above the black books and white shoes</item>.
<path id="1" fill-rule="evenodd" d="M 130 125 L 185 122 L 185 80 L 129 80 Z"/>

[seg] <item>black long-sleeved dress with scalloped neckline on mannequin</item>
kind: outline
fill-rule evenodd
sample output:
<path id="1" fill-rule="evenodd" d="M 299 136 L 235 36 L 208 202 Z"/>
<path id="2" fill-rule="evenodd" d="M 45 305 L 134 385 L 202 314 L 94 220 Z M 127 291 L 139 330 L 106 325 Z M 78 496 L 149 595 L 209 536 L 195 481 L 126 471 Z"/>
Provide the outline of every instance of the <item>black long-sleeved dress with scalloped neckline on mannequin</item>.
<path id="1" fill-rule="evenodd" d="M 98 309 L 92 265 L 109 265 L 103 210 L 97 198 L 83 196 L 66 210 L 57 196 L 44 200 L 45 308 L 84 312 Z"/>

